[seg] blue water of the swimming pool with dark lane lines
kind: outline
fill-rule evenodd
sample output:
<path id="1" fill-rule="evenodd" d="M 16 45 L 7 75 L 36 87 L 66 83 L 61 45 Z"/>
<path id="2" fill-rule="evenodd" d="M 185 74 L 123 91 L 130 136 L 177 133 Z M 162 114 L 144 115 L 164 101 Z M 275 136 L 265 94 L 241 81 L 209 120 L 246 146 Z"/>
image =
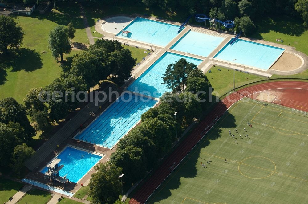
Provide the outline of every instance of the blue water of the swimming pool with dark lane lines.
<path id="1" fill-rule="evenodd" d="M 111 149 L 140 120 L 141 114 L 156 102 L 148 97 L 124 93 L 75 139 Z"/>

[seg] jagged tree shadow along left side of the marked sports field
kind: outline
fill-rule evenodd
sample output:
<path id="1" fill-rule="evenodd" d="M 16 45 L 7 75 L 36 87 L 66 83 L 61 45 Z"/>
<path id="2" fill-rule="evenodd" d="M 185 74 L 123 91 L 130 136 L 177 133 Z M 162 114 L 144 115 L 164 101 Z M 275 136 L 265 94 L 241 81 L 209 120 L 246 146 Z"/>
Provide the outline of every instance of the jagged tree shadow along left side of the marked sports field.
<path id="1" fill-rule="evenodd" d="M 226 108 L 226 107 L 221 107 Z M 236 120 L 232 114 L 229 114 L 227 111 L 222 117 L 223 121 L 218 121 L 216 125 L 205 135 L 203 139 L 193 148 L 193 150 L 185 157 L 185 159 L 179 164 L 179 166 L 172 172 L 165 181 L 164 186 L 161 190 L 158 189 L 155 194 L 149 199 L 150 203 L 160 202 L 161 200 L 167 199 L 172 195 L 172 190 L 178 189 L 181 186 L 181 178 L 196 178 L 197 171 L 199 168 L 204 168 L 206 171 L 207 168 L 211 167 L 211 163 L 213 162 L 221 162 L 222 164 L 225 163 L 225 160 L 221 159 L 221 161 L 217 161 L 217 159 L 211 158 L 210 155 L 202 154 L 204 152 L 204 148 L 211 144 L 212 140 L 216 140 L 221 137 L 222 128 L 234 128 L 236 127 Z M 205 125 L 207 126 L 207 125 Z M 195 127 L 197 128 L 197 127 Z M 189 137 L 197 137 L 198 135 L 190 135 Z M 180 144 L 181 146 L 185 147 L 185 144 Z M 211 158 L 211 159 L 210 159 Z M 213 160 L 213 161 L 212 161 Z M 200 162 L 205 164 L 205 167 L 200 166 Z M 196 165 L 197 164 L 197 165 Z M 182 186 L 182 188 L 184 188 Z M 158 192 L 158 193 L 157 193 Z"/>

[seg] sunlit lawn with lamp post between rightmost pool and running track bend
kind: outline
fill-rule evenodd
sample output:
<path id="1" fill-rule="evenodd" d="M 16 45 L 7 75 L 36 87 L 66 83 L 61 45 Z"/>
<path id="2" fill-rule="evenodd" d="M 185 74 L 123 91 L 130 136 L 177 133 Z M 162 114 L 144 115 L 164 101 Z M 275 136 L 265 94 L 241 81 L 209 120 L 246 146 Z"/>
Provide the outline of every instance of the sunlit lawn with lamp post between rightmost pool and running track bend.
<path id="1" fill-rule="evenodd" d="M 218 69 L 221 69 L 221 71 Z M 212 72 L 207 72 L 205 75 L 212 84 L 214 91 L 218 92 L 219 97 L 233 90 L 233 69 L 216 66 L 212 67 L 210 70 Z M 266 79 L 266 77 L 235 71 L 235 88 L 262 79 Z M 217 96 L 217 93 L 213 92 L 213 94 Z"/>

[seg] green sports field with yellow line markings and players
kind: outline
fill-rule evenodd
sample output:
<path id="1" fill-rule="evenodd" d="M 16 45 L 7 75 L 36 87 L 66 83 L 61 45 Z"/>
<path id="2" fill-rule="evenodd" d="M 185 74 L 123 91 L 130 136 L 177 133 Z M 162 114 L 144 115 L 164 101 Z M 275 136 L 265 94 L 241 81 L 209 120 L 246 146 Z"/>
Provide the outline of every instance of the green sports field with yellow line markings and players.
<path id="1" fill-rule="evenodd" d="M 306 203 L 307 123 L 283 106 L 233 104 L 148 203 Z"/>

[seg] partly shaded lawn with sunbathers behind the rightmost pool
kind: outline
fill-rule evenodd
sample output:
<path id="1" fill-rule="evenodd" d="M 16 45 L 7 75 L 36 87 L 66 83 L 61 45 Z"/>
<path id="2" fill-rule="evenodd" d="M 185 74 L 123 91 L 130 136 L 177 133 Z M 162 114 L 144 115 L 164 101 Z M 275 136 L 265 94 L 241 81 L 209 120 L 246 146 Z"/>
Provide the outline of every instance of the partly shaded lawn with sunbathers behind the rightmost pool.
<path id="1" fill-rule="evenodd" d="M 308 30 L 303 28 L 302 23 L 301 19 L 290 19 L 283 16 L 265 18 L 256 22 L 258 30 L 251 37 L 292 46 L 297 51 L 308 55 Z M 276 42 L 277 38 L 281 38 L 283 43 Z M 308 76 L 308 70 L 297 76 Z"/>

